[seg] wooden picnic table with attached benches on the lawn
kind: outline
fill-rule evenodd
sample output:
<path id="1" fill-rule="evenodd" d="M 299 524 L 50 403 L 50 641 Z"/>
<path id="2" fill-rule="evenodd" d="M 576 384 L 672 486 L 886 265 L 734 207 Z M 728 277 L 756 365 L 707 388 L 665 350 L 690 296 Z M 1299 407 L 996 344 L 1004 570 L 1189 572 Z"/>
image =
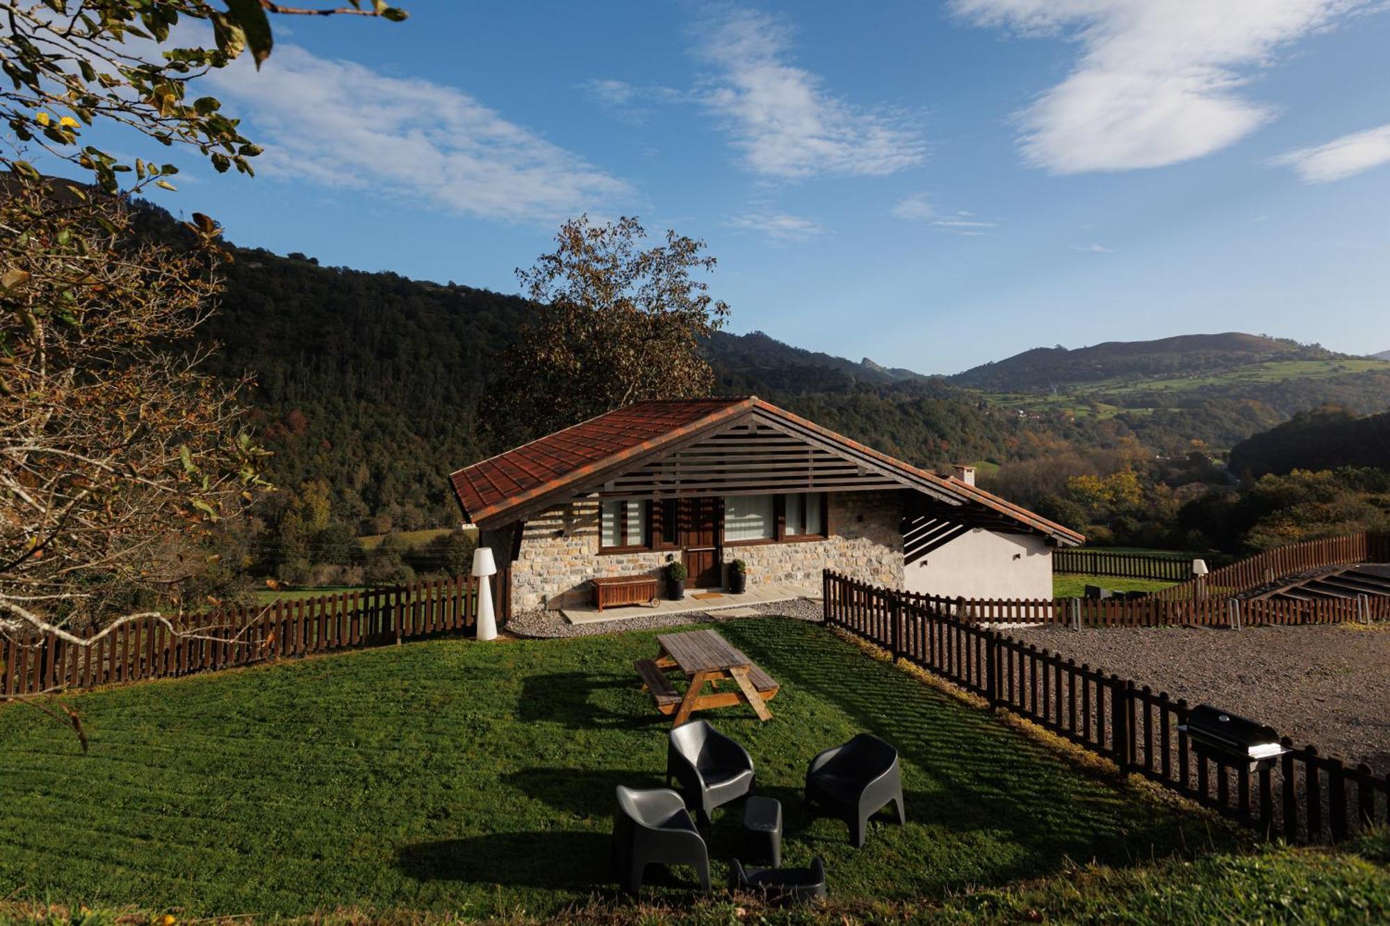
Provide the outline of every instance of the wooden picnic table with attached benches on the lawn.
<path id="1" fill-rule="evenodd" d="M 760 720 L 771 720 L 767 701 L 777 695 L 778 684 L 758 667 L 738 647 L 713 630 L 660 634 L 656 659 L 638 659 L 634 665 L 642 687 L 652 692 L 656 709 L 676 715 L 671 726 L 681 726 L 695 710 L 746 704 Z M 684 694 L 676 690 L 667 670 L 685 676 Z M 733 681 L 734 691 L 720 691 L 721 681 Z M 713 691 L 705 694 L 705 685 Z"/>

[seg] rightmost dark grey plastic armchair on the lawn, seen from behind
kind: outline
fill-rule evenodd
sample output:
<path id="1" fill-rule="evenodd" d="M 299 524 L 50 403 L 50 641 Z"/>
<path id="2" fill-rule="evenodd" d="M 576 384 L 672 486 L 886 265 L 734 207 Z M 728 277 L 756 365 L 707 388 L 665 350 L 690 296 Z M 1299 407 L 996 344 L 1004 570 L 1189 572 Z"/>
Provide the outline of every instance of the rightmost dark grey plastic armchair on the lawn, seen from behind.
<path id="1" fill-rule="evenodd" d="M 842 818 L 849 825 L 849 841 L 855 848 L 865 844 L 869 818 L 888 804 L 895 806 L 898 826 L 902 826 L 908 818 L 898 751 L 867 733 L 826 749 L 806 769 L 806 802 Z"/>

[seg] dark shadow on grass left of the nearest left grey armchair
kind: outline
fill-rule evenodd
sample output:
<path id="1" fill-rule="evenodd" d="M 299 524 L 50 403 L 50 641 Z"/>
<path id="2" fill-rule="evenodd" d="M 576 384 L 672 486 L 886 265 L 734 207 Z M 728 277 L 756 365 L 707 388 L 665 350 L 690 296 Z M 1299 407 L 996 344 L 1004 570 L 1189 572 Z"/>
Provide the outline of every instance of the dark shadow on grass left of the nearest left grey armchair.
<path id="1" fill-rule="evenodd" d="M 607 833 L 489 833 L 403 847 L 396 865 L 417 882 L 509 887 L 612 887 Z"/>

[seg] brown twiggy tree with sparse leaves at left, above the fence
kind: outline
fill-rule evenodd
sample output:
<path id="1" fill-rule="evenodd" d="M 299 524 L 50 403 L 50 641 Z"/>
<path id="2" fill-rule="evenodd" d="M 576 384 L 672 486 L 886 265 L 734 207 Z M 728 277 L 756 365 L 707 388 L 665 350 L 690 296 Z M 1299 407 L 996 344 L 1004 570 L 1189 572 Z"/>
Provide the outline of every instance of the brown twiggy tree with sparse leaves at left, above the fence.
<path id="1" fill-rule="evenodd" d="M 136 241 L 126 207 L 11 181 L 0 200 L 0 631 L 78 631 L 183 606 L 206 530 L 240 513 L 263 452 L 242 384 L 182 353 L 220 292 L 199 247 Z"/>

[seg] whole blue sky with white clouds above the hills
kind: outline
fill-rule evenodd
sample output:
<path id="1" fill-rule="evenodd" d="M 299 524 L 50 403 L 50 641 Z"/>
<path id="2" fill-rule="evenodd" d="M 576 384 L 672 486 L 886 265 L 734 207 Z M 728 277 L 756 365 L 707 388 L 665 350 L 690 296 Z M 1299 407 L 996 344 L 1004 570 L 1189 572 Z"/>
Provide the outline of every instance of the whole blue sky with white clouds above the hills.
<path id="1" fill-rule="evenodd" d="M 208 78 L 259 177 L 183 156 L 157 202 L 505 292 L 564 216 L 638 214 L 706 239 L 731 331 L 926 373 L 1195 331 L 1390 349 L 1379 0 L 402 4 L 277 21 L 260 74 Z"/>

